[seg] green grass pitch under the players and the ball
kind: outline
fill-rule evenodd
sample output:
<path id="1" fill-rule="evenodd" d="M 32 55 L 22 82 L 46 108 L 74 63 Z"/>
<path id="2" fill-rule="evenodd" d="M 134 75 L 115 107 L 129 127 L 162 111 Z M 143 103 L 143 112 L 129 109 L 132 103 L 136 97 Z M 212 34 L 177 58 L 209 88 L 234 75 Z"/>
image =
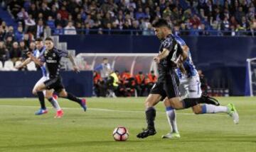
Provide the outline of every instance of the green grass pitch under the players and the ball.
<path id="1" fill-rule="evenodd" d="M 161 139 L 169 131 L 163 103 L 156 105 L 155 136 L 137 139 L 146 127 L 145 98 L 88 98 L 87 112 L 77 103 L 59 99 L 65 112 L 36 116 L 36 98 L 0 99 L 0 152 L 87 151 L 188 151 L 255 152 L 256 98 L 218 98 L 222 105 L 234 103 L 240 123 L 226 114 L 194 115 L 191 109 L 177 111 L 181 139 Z M 128 141 L 114 141 L 112 131 L 129 129 Z"/>

